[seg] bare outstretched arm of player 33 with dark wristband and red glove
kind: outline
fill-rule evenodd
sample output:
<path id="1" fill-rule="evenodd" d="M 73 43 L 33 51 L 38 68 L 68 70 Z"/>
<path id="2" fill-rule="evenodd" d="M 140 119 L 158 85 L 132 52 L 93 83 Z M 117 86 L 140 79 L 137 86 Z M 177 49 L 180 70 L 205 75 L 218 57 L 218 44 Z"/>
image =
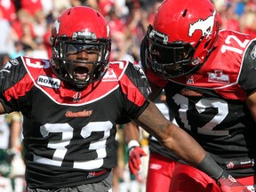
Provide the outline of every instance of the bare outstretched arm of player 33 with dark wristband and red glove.
<path id="1" fill-rule="evenodd" d="M 216 180 L 223 192 L 249 191 L 216 164 L 187 132 L 166 119 L 153 102 L 150 102 L 148 108 L 134 122 L 155 136 L 164 147 L 171 149 L 186 163 Z"/>

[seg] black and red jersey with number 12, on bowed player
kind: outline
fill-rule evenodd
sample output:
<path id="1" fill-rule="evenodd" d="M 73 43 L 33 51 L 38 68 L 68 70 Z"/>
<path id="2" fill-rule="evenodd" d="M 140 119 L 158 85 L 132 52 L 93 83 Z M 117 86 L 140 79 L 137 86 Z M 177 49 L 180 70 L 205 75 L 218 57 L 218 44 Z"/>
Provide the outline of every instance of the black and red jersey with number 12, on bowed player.
<path id="1" fill-rule="evenodd" d="M 220 30 L 216 48 L 202 68 L 170 81 L 146 67 L 145 41 L 142 66 L 148 79 L 164 88 L 180 127 L 234 176 L 253 175 L 256 124 L 244 100 L 256 90 L 255 38 Z"/>

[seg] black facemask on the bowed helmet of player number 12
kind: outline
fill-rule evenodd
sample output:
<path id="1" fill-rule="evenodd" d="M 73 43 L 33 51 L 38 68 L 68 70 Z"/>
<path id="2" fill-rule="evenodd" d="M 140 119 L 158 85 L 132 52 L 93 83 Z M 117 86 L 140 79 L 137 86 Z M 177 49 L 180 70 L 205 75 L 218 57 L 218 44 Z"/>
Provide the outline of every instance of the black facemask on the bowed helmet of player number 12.
<path id="1" fill-rule="evenodd" d="M 151 25 L 147 31 L 146 63 L 157 76 L 166 80 L 184 76 L 195 70 L 198 61 L 193 59 L 195 48 L 182 41 L 169 43 L 168 36 L 156 31 Z"/>

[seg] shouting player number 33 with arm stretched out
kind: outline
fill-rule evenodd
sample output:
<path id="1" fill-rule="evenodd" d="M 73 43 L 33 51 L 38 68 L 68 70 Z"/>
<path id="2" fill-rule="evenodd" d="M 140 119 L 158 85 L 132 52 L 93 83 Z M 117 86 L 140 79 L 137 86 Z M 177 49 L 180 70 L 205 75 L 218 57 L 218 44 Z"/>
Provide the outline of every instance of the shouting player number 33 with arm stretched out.
<path id="1" fill-rule="evenodd" d="M 244 188 L 148 100 L 141 68 L 109 61 L 110 44 L 100 12 L 72 7 L 52 25 L 52 60 L 24 56 L 1 70 L 0 113 L 24 119 L 28 192 L 111 191 L 116 124 L 130 119 L 223 191 Z"/>

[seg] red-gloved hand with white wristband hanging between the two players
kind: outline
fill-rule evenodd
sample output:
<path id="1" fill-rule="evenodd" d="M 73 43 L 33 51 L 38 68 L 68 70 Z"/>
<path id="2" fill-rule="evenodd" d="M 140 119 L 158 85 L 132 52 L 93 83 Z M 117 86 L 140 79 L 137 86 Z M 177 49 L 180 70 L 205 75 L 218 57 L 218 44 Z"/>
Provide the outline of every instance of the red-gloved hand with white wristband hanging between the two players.
<path id="1" fill-rule="evenodd" d="M 140 157 L 141 156 L 147 156 L 147 154 L 144 152 L 144 150 L 142 148 L 140 148 L 140 144 L 136 144 L 135 141 L 132 141 L 134 145 L 130 145 L 131 142 L 128 144 L 128 151 L 129 151 L 129 169 L 130 172 L 132 172 L 132 174 L 136 174 L 138 171 L 140 171 L 140 164 L 141 164 L 141 160 Z M 139 145 L 139 146 L 138 146 Z"/>

